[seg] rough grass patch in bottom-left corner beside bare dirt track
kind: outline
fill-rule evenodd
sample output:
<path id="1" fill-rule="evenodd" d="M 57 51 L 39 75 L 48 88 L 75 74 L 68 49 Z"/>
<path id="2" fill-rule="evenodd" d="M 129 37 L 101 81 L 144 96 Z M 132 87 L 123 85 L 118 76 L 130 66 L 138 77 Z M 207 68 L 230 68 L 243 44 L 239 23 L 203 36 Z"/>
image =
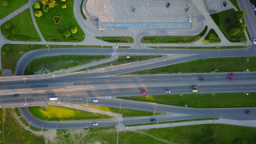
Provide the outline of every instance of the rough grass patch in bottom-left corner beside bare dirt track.
<path id="1" fill-rule="evenodd" d="M 11 108 L 0 109 L 0 141 L 4 144 L 45 144 L 43 136 L 36 136 L 22 128 L 13 112 Z"/>

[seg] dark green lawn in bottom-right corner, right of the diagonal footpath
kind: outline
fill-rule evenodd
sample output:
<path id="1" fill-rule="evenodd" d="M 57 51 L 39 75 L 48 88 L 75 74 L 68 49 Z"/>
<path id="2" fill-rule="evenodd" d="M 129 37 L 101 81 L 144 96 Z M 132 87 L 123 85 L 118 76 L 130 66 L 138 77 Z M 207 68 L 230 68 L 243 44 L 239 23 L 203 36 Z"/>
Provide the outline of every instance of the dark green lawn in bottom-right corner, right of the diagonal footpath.
<path id="1" fill-rule="evenodd" d="M 170 128 L 154 128 L 140 131 L 175 144 L 195 144 L 195 142 L 200 142 L 200 144 L 212 144 L 212 141 L 218 142 L 218 144 L 233 144 L 236 138 L 255 140 L 256 134 L 256 128 L 226 124 L 202 124 Z M 216 136 L 211 137 L 209 134 L 210 131 L 215 132 Z"/>

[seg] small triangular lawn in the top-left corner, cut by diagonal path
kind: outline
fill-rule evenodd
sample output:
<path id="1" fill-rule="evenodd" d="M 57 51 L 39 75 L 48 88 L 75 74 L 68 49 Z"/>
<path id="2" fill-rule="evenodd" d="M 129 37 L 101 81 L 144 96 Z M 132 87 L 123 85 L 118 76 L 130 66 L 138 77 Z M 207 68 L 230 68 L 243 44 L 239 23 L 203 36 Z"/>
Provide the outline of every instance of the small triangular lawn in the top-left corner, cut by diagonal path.
<path id="1" fill-rule="evenodd" d="M 14 12 L 15 10 L 17 10 L 18 8 L 20 8 L 21 6 L 23 6 L 28 2 L 28 0 L 12 0 L 12 1 L 8 0 L 9 5 L 4 7 L 2 5 L 2 1 L 3 0 L 1 0 L 1 4 L 0 4 L 0 19 Z"/>

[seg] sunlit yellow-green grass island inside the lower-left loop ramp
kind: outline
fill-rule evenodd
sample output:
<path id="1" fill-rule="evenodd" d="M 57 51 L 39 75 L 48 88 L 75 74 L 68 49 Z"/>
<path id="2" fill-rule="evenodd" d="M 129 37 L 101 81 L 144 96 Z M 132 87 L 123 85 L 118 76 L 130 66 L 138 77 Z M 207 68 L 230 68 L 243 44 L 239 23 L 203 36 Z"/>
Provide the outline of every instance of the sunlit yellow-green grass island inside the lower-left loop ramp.
<path id="1" fill-rule="evenodd" d="M 28 107 L 30 113 L 40 119 L 46 121 L 66 121 L 66 120 L 94 120 L 114 118 L 102 114 L 85 112 L 58 106 L 44 106 L 44 110 L 40 106 Z"/>

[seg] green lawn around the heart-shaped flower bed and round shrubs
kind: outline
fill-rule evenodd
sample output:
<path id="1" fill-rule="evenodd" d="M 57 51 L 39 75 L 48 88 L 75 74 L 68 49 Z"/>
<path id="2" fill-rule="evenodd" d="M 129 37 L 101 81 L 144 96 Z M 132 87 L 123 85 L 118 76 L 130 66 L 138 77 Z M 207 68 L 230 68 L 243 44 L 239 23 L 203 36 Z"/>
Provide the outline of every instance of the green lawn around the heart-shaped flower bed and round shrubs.
<path id="1" fill-rule="evenodd" d="M 84 32 L 76 22 L 73 12 L 73 0 L 68 0 L 66 2 L 61 2 L 60 0 L 56 0 L 56 6 L 54 8 L 50 8 L 47 13 L 43 12 L 43 15 L 41 18 L 36 18 L 36 23 L 44 36 L 44 39 L 46 37 L 55 37 L 56 40 L 60 40 L 62 42 L 71 42 L 71 39 L 65 39 L 64 38 L 64 32 L 66 30 L 69 30 L 74 26 L 77 28 L 76 34 L 72 34 L 70 37 L 74 37 L 72 40 L 78 40 L 81 42 L 84 40 Z M 62 4 L 66 4 L 67 8 L 61 8 Z M 42 8 L 41 8 L 42 9 Z M 35 10 L 34 10 L 35 11 Z M 54 24 L 54 20 L 52 20 L 53 16 L 60 16 L 62 17 L 59 24 Z M 58 34 L 56 30 L 60 29 L 61 33 Z M 71 31 L 70 31 L 71 32 Z M 86 36 L 85 36 L 86 37 Z M 52 41 L 52 40 L 50 40 Z"/>

